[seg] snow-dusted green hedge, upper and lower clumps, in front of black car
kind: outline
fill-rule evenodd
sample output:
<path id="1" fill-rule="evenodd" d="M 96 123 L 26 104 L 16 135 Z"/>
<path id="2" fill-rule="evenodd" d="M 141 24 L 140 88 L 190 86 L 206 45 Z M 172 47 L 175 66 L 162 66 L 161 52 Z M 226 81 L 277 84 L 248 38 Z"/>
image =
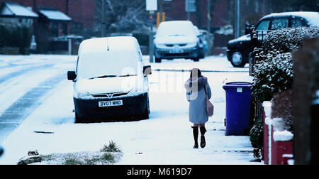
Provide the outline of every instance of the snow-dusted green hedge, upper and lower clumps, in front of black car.
<path id="1" fill-rule="evenodd" d="M 291 89 L 293 58 L 306 38 L 319 37 L 319 27 L 284 28 L 268 33 L 263 42 L 263 60 L 254 66 L 254 97 L 270 101 L 274 94 Z"/>

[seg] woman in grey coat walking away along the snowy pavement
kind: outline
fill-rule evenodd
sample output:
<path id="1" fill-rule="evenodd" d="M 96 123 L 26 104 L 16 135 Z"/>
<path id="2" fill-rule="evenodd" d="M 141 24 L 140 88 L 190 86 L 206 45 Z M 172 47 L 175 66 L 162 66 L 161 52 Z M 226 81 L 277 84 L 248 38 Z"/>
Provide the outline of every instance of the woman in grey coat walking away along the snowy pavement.
<path id="1" fill-rule="evenodd" d="M 211 87 L 208 85 L 207 77 L 203 77 L 201 70 L 195 68 L 191 70 L 191 77 L 186 81 L 185 88 L 186 99 L 189 101 L 189 121 L 194 124 L 194 148 L 198 148 L 198 127 L 201 131 L 201 148 L 205 148 L 205 124 L 208 121 L 206 100 L 207 97 L 211 99 Z"/>

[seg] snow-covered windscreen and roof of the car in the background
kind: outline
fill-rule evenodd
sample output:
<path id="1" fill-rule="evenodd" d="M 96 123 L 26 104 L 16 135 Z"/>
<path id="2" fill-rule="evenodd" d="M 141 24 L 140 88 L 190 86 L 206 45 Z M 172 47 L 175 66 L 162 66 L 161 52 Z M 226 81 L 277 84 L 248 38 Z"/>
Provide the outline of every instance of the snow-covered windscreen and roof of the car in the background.
<path id="1" fill-rule="evenodd" d="M 191 23 L 162 23 L 157 36 L 196 36 L 195 28 Z"/>

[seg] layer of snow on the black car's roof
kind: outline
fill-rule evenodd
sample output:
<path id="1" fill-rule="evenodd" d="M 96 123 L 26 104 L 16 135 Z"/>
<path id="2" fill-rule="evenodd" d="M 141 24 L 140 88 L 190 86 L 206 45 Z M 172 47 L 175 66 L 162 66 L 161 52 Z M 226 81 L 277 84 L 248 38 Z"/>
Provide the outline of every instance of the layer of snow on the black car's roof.
<path id="1" fill-rule="evenodd" d="M 278 17 L 278 16 L 299 16 L 302 18 L 306 18 L 308 23 L 310 23 L 310 26 L 319 26 L 319 13 L 318 12 L 284 12 L 284 13 L 272 13 L 267 16 L 264 16 L 264 18 L 272 18 L 272 17 Z"/>

